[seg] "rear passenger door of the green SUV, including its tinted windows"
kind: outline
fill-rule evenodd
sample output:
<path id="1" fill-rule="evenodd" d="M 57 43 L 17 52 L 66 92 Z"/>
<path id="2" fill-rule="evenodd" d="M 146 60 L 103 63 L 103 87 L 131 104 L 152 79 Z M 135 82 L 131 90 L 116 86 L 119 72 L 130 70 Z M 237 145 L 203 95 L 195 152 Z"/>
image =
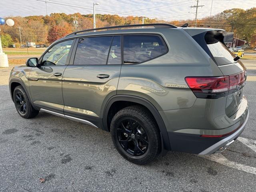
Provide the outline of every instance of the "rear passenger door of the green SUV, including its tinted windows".
<path id="1" fill-rule="evenodd" d="M 121 36 L 79 38 L 75 47 L 62 78 L 64 114 L 97 124 L 102 103 L 116 95 Z"/>

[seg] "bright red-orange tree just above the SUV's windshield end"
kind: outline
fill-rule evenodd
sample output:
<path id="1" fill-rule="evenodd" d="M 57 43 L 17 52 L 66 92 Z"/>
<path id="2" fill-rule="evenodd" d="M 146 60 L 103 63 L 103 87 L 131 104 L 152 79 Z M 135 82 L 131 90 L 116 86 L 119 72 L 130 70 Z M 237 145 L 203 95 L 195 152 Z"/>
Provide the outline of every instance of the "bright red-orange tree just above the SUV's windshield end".
<path id="1" fill-rule="evenodd" d="M 52 43 L 72 32 L 71 29 L 62 26 L 53 26 L 48 32 L 48 42 Z"/>

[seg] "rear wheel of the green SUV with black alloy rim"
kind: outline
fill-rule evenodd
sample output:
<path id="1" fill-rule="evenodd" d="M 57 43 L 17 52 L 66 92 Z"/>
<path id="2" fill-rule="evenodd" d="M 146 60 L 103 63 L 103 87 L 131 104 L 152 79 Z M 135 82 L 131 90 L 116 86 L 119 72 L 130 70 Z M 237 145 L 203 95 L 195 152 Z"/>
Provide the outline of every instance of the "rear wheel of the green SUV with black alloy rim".
<path id="1" fill-rule="evenodd" d="M 118 111 L 110 124 L 115 148 L 134 164 L 147 164 L 160 152 L 160 132 L 153 116 L 143 107 Z"/>

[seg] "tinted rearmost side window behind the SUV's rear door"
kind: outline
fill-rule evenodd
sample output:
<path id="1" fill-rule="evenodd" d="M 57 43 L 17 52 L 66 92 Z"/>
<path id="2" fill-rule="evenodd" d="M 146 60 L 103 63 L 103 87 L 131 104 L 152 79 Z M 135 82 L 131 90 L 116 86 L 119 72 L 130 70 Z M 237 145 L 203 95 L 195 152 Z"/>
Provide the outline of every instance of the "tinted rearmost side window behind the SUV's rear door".
<path id="1" fill-rule="evenodd" d="M 168 49 L 159 36 L 124 36 L 124 64 L 141 63 L 165 54 Z"/>

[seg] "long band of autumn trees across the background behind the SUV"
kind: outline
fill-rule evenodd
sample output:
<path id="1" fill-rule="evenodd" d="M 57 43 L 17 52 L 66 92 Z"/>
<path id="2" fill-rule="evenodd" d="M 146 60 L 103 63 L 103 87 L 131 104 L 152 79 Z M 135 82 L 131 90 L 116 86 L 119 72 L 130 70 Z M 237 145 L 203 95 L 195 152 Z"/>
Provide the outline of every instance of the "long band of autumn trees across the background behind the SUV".
<path id="1" fill-rule="evenodd" d="M 20 41 L 20 33 L 18 26 L 21 29 L 22 42 L 26 41 L 36 43 L 53 42 L 54 40 L 68 34 L 75 30 L 74 18 L 78 20 L 77 30 L 93 28 L 92 14 L 65 14 L 52 13 L 50 16 L 26 16 L 26 17 L 12 17 L 15 22 L 15 27 L 7 25 L 1 26 L 4 34 L 9 34 L 13 42 Z M 143 16 L 147 17 L 147 15 Z M 142 24 L 142 16 L 119 16 L 118 14 L 96 14 L 96 26 L 117 26 L 117 25 L 131 25 Z M 10 17 L 6 17 L 8 19 Z M 158 20 L 157 18 L 147 18 L 144 20 L 145 24 L 149 23 L 170 23 L 176 26 L 188 23 L 189 26 L 195 26 L 193 18 L 188 20 Z M 256 34 L 256 8 L 243 10 L 234 8 L 224 10 L 220 14 L 205 17 L 197 20 L 198 27 L 208 28 L 222 28 L 227 32 L 234 32 L 234 36 L 240 39 L 250 41 Z M 252 41 L 253 42 L 253 41 Z"/>

